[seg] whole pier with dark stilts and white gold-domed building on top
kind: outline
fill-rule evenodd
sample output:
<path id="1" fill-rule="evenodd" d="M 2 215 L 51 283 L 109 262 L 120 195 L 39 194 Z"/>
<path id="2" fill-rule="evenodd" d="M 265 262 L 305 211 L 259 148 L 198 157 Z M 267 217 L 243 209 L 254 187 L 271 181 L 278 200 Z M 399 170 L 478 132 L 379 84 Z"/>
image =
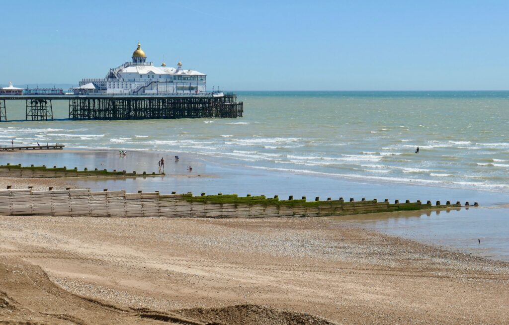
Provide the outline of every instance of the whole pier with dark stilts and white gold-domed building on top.
<path id="1" fill-rule="evenodd" d="M 6 100 L 26 101 L 26 120 L 52 120 L 53 100 L 69 101 L 70 120 L 241 117 L 243 103 L 233 93 L 207 91 L 207 75 L 162 62 L 155 66 L 138 41 L 131 61 L 109 69 L 104 78 L 84 78 L 67 93 L 60 89 L 0 89 L 0 121 Z"/>

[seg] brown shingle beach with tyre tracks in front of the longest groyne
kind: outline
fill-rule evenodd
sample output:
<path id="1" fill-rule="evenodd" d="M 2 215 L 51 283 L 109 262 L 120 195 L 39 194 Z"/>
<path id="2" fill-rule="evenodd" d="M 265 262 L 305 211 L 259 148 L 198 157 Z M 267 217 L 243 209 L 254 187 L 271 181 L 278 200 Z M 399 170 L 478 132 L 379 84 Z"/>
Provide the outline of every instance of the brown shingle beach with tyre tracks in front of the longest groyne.
<path id="1" fill-rule="evenodd" d="M 0 316 L 13 321 L 136 323 L 140 308 L 227 324 L 326 323 L 281 309 L 337 324 L 509 321 L 509 263 L 331 218 L 0 217 L 0 238 L 2 294 L 17 304 Z M 56 286 L 19 289 L 45 275 Z"/>

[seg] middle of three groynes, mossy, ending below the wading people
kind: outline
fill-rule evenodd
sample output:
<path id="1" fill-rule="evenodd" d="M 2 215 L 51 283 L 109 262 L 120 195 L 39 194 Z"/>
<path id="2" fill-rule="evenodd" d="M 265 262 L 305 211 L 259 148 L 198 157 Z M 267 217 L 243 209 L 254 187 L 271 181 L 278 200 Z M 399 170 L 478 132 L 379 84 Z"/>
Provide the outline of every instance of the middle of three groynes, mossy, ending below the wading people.
<path id="1" fill-rule="evenodd" d="M 22 167 L 19 165 L 0 165 L 0 176 L 3 177 L 15 177 L 15 178 L 70 178 L 70 177 L 139 177 L 139 176 L 162 176 L 164 173 L 147 173 L 146 171 L 142 173 L 137 173 L 136 171 L 127 172 L 125 170 L 117 171 L 114 169 L 113 171 L 108 171 L 107 169 L 98 169 L 94 168 L 94 170 L 89 170 L 88 168 L 84 168 L 83 170 L 78 170 L 77 167 L 73 169 L 67 169 L 67 167 L 56 167 L 47 168 L 46 166 L 30 166 L 30 167 Z"/>

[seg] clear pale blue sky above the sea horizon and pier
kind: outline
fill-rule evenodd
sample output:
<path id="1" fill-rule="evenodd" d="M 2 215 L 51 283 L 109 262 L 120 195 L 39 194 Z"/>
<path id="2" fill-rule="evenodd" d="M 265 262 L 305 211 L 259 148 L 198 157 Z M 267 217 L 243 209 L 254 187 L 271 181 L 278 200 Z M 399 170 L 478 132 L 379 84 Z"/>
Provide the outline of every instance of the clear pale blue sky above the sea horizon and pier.
<path id="1" fill-rule="evenodd" d="M 508 1 L 2 2 L 0 83 L 74 83 L 130 61 L 225 90 L 507 90 Z"/>

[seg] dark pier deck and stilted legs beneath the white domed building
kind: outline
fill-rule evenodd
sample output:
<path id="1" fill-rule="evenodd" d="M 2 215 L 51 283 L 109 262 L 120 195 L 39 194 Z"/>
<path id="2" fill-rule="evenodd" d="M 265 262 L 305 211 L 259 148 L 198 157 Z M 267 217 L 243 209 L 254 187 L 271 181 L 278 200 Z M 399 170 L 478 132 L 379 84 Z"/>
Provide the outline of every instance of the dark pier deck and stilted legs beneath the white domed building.
<path id="1" fill-rule="evenodd" d="M 7 122 L 7 101 L 25 101 L 26 121 L 53 120 L 52 101 L 69 103 L 69 120 L 142 120 L 242 117 L 237 95 L 3 95 L 0 121 Z"/>

